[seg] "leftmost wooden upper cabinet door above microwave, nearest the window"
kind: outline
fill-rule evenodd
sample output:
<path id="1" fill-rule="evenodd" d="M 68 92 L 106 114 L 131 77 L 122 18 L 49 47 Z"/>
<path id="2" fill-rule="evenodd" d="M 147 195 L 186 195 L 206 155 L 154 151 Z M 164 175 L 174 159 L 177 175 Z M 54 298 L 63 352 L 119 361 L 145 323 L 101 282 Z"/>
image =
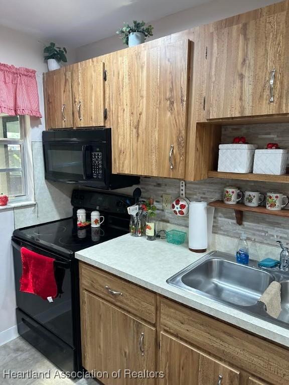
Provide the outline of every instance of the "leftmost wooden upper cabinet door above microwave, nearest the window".
<path id="1" fill-rule="evenodd" d="M 72 128 L 70 67 L 44 74 L 46 129 Z"/>

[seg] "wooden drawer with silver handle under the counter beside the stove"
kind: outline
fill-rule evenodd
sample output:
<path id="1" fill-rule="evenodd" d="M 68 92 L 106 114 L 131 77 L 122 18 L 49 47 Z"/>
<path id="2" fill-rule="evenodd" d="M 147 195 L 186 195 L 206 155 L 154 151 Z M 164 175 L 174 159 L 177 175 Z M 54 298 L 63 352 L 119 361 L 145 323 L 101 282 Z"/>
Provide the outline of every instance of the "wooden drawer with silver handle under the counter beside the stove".
<path id="1" fill-rule="evenodd" d="M 79 264 L 82 289 L 86 289 L 151 323 L 156 322 L 156 295 L 82 262 Z"/>

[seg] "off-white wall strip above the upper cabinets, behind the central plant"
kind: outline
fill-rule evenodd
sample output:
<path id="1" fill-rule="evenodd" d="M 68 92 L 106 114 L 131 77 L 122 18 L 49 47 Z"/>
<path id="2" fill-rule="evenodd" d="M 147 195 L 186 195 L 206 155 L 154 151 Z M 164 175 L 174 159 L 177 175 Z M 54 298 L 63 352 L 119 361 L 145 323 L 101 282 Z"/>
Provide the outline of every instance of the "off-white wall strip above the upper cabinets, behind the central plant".
<path id="1" fill-rule="evenodd" d="M 157 21 L 151 21 L 154 26 L 154 36 L 157 39 L 176 32 L 188 30 L 202 24 L 209 24 L 230 16 L 238 15 L 269 4 L 278 3 L 277 0 L 214 0 L 185 11 L 169 15 Z M 121 27 L 123 20 L 119 21 Z M 82 61 L 109 52 L 126 48 L 115 34 L 106 39 L 99 40 L 76 49 L 76 60 Z"/>

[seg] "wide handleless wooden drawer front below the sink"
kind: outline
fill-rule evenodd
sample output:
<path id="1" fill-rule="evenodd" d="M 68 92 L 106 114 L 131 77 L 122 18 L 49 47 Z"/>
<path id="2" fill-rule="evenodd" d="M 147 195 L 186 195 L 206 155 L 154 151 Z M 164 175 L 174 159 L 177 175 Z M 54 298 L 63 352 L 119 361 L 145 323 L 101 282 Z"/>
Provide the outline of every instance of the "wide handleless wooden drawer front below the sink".
<path id="1" fill-rule="evenodd" d="M 274 385 L 289 383 L 289 351 L 194 310 L 162 300 L 162 329 Z"/>

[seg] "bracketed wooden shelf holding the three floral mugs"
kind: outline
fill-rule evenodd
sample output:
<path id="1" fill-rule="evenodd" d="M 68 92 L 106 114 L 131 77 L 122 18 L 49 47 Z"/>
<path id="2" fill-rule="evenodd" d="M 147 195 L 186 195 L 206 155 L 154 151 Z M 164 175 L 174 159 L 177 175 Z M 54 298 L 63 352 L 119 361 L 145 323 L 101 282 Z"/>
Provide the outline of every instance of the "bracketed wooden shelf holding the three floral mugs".
<path id="1" fill-rule="evenodd" d="M 263 206 L 258 206 L 258 207 L 250 207 L 250 206 L 245 206 L 240 203 L 237 203 L 236 205 L 228 205 L 224 203 L 223 201 L 214 201 L 210 202 L 209 206 L 216 207 L 218 209 L 231 209 L 235 211 L 236 215 L 236 221 L 238 225 L 242 225 L 243 223 L 243 212 L 244 211 L 250 211 L 252 213 L 257 213 L 257 214 L 267 214 L 267 215 L 274 215 L 275 217 L 285 217 L 289 218 L 289 210 L 268 210 Z"/>

